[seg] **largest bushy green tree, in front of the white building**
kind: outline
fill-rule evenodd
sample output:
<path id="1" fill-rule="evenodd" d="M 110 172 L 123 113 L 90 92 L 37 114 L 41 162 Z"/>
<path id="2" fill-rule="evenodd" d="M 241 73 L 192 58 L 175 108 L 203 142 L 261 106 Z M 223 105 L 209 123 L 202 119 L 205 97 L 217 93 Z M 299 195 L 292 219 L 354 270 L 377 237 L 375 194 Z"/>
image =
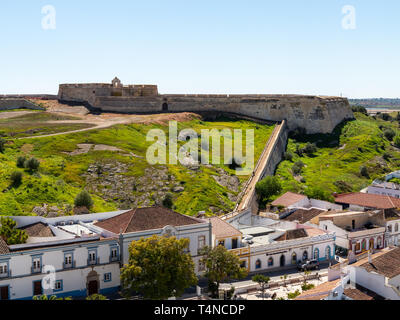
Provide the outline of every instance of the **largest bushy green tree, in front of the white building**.
<path id="1" fill-rule="evenodd" d="M 133 241 L 129 262 L 121 270 L 123 295 L 140 293 L 145 299 L 165 300 L 181 296 L 197 284 L 188 239 L 152 236 Z"/>

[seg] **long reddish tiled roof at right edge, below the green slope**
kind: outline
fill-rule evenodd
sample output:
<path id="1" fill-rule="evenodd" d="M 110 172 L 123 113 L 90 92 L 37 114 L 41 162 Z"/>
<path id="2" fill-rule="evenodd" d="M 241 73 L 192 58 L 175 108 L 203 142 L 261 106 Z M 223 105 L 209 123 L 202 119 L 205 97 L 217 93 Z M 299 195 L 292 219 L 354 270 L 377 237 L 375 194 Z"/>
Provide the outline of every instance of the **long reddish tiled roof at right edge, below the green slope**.
<path id="1" fill-rule="evenodd" d="M 345 193 L 335 196 L 335 202 L 353 204 L 369 208 L 390 209 L 400 208 L 400 199 L 372 193 Z"/>

